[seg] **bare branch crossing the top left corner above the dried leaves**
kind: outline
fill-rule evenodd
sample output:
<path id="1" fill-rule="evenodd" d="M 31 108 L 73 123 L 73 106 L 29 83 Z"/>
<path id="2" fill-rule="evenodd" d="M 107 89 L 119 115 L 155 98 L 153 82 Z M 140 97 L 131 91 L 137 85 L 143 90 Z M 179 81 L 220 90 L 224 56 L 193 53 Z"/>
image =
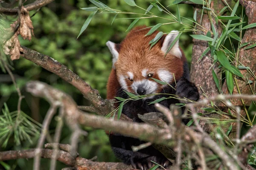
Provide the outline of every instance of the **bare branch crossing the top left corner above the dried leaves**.
<path id="1" fill-rule="evenodd" d="M 30 3 L 26 6 L 24 6 L 26 8 L 27 11 L 32 11 L 38 8 L 41 8 L 43 6 L 46 6 L 48 3 L 51 3 L 54 0 L 36 0 L 33 3 Z M 16 8 L 3 8 L 0 7 L 0 13 L 2 14 L 8 14 L 8 15 L 17 15 L 18 14 L 18 7 Z"/>

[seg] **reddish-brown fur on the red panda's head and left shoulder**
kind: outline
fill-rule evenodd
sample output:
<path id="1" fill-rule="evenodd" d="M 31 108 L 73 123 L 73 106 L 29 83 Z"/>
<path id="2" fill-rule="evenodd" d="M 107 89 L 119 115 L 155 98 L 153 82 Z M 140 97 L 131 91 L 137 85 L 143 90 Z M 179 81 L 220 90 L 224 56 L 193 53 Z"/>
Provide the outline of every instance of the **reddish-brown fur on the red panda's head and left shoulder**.
<path id="1" fill-rule="evenodd" d="M 172 54 L 167 54 L 166 57 L 164 57 L 165 54 L 161 51 L 161 47 L 166 35 L 164 35 L 150 49 L 150 45 L 148 43 L 159 31 L 155 31 L 153 34 L 145 36 L 149 31 L 149 28 L 143 28 L 145 28 L 145 26 L 134 28 L 120 43 L 119 49 L 117 49 L 119 51 L 119 58 L 115 64 L 116 70 L 112 69 L 108 79 L 107 99 L 114 99 L 117 90 L 120 88 L 117 76 L 126 75 L 128 71 L 134 73 L 134 79 L 136 80 L 143 79 L 141 71 L 145 68 L 148 69 L 149 73 L 163 68 L 164 70 L 168 70 L 174 74 L 176 80 L 182 77 L 183 63 L 186 62 L 186 57 L 184 56 L 183 51 L 181 50 L 181 58 Z M 154 74 L 153 78 L 159 79 L 157 74 Z M 127 79 L 126 83 L 129 87 L 132 82 Z M 159 88 L 158 92 L 160 91 L 161 88 Z"/>

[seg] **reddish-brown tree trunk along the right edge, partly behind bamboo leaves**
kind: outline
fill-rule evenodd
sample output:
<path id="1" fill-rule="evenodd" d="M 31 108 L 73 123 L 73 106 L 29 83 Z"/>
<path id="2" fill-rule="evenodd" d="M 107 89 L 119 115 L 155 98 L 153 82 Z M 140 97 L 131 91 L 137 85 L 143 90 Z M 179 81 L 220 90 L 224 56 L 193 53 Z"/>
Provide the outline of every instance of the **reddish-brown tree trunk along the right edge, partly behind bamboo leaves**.
<path id="1" fill-rule="evenodd" d="M 248 25 L 251 23 L 256 23 L 256 3 L 251 2 L 251 1 L 246 1 L 246 0 L 240 0 L 239 2 L 241 5 L 244 5 L 245 13 L 248 17 Z M 245 31 L 245 34 L 244 34 L 244 37 L 243 37 L 241 43 L 245 43 L 245 42 L 252 42 L 252 44 L 256 43 L 256 28 L 255 27 L 249 28 Z M 246 48 L 247 46 L 249 46 L 249 45 L 246 45 L 240 49 L 239 62 L 241 62 L 241 64 L 246 67 L 250 67 L 251 71 L 255 75 L 256 74 L 256 48 L 250 48 L 248 50 L 245 50 L 244 48 Z M 238 64 L 238 65 L 241 65 L 241 64 Z M 252 88 L 255 87 L 255 78 L 253 78 L 253 76 L 247 70 L 240 70 L 240 71 L 243 74 L 244 78 L 242 79 L 242 78 L 234 77 L 237 81 L 239 89 L 236 87 L 236 83 L 234 82 L 233 94 L 239 94 L 239 90 L 240 90 L 241 94 L 253 94 L 250 89 L 250 86 Z M 249 85 L 248 80 L 251 80 L 253 83 Z M 253 90 L 255 91 L 255 89 L 253 89 Z M 224 94 L 229 93 L 228 89 L 227 89 L 226 82 L 224 83 L 224 85 L 222 87 L 222 91 Z M 241 113 L 240 113 L 241 116 L 246 117 L 246 113 L 244 111 L 244 106 L 241 102 L 241 99 L 230 99 L 230 101 L 231 101 L 232 105 L 239 106 L 241 108 Z M 251 104 L 250 100 L 244 100 L 244 105 L 247 109 L 250 106 L 250 104 Z M 224 108 L 224 111 L 227 112 L 227 107 Z M 236 113 L 233 113 L 233 111 L 231 111 L 231 113 L 236 114 Z M 233 125 L 233 129 L 232 129 L 229 137 L 235 138 L 237 123 L 234 122 L 234 123 L 232 123 L 232 125 Z"/>

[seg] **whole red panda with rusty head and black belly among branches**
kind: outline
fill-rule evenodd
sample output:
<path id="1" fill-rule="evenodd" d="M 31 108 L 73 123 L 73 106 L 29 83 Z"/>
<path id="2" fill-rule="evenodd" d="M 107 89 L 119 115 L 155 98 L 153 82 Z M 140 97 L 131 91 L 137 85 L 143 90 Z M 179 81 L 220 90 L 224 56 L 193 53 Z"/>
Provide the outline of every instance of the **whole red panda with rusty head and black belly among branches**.
<path id="1" fill-rule="evenodd" d="M 163 35 L 151 49 L 149 42 L 159 31 L 145 36 L 148 31 L 149 29 L 145 26 L 139 26 L 131 30 L 120 44 L 111 41 L 106 43 L 113 55 L 112 71 L 107 85 L 108 99 L 114 99 L 115 96 L 127 99 L 129 96 L 124 91 L 136 95 L 161 93 L 142 100 L 129 101 L 123 106 L 122 113 L 133 119 L 134 122 L 142 122 L 138 118 L 138 114 L 156 112 L 154 105 L 148 105 L 148 102 L 163 96 L 168 98 L 169 94 L 175 94 L 195 101 L 199 99 L 198 89 L 189 82 L 188 64 L 179 47 L 179 40 L 166 54 L 177 37 L 178 31 L 171 31 L 168 35 Z M 167 82 L 168 85 L 162 85 L 151 78 Z M 173 98 L 160 102 L 166 107 L 175 103 L 179 103 L 179 101 Z M 124 163 L 132 164 L 134 168 L 148 170 L 152 166 L 151 161 L 155 161 L 163 167 L 168 167 L 170 164 L 170 161 L 152 146 L 133 152 L 131 146 L 144 143 L 139 139 L 111 134 L 110 142 L 115 155 Z"/>

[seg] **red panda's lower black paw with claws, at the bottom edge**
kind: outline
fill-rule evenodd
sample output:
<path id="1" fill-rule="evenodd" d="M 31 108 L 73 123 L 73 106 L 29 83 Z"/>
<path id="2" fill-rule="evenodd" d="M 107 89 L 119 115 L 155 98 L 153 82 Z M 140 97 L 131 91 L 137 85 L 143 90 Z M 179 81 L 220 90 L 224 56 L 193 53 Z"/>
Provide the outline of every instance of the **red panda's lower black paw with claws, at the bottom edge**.
<path id="1" fill-rule="evenodd" d="M 135 161 L 135 160 L 134 160 Z M 169 167 L 172 163 L 166 159 L 165 157 L 156 157 L 156 156 L 150 156 L 144 159 L 140 159 L 137 162 L 133 162 L 132 166 L 139 170 L 149 170 L 150 168 L 154 167 L 156 164 L 154 164 L 152 161 L 156 162 L 157 164 L 160 164 L 164 168 Z M 162 168 L 159 167 L 157 170 L 161 170 Z"/>

